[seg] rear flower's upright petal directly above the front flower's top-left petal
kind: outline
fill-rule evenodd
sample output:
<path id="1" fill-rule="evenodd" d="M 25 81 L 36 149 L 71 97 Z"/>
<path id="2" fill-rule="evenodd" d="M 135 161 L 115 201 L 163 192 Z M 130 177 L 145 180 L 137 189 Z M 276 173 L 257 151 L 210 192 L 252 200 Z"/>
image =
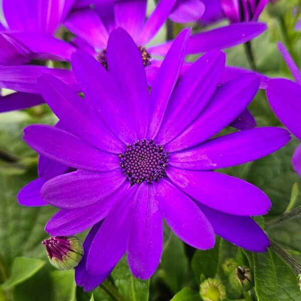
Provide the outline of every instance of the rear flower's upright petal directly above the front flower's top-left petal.
<path id="1" fill-rule="evenodd" d="M 146 0 L 122 0 L 114 3 L 116 26 L 125 29 L 135 40 L 144 25 Z"/>

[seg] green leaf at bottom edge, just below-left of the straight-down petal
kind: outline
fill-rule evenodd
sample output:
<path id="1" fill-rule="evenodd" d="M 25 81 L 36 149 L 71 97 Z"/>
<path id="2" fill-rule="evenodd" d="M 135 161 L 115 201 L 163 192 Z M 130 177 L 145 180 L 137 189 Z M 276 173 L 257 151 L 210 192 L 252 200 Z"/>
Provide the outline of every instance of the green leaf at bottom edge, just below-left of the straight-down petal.
<path id="1" fill-rule="evenodd" d="M 120 294 L 131 301 L 147 301 L 149 295 L 149 280 L 136 279 L 130 272 L 126 256 L 123 256 L 113 269 L 111 276 Z"/>

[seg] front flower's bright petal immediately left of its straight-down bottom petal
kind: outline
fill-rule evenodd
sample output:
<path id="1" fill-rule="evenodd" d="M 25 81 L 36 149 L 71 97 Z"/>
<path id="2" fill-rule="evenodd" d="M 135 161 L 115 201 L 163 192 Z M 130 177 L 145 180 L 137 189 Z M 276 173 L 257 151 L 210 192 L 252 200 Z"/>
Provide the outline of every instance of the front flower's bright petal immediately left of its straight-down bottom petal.
<path id="1" fill-rule="evenodd" d="M 126 250 L 134 193 L 133 186 L 124 198 L 110 210 L 95 235 L 87 258 L 87 270 L 93 274 L 110 270 Z"/>

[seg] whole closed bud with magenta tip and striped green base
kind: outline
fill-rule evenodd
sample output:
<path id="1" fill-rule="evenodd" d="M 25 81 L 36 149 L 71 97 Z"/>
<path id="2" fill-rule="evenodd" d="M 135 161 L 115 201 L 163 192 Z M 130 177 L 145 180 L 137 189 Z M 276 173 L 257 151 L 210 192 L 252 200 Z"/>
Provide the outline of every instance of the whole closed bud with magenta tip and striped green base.
<path id="1" fill-rule="evenodd" d="M 51 236 L 42 243 L 46 247 L 51 264 L 60 270 L 76 267 L 84 254 L 83 246 L 75 236 Z"/>

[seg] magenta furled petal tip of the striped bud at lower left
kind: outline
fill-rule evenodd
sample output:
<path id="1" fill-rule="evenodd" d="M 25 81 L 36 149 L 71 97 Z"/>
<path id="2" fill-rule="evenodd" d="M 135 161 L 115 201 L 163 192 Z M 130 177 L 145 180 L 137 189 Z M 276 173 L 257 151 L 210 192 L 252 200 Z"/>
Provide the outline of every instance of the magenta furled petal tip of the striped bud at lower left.
<path id="1" fill-rule="evenodd" d="M 62 259 L 71 250 L 69 240 L 64 236 L 51 236 L 42 241 L 50 258 Z"/>

